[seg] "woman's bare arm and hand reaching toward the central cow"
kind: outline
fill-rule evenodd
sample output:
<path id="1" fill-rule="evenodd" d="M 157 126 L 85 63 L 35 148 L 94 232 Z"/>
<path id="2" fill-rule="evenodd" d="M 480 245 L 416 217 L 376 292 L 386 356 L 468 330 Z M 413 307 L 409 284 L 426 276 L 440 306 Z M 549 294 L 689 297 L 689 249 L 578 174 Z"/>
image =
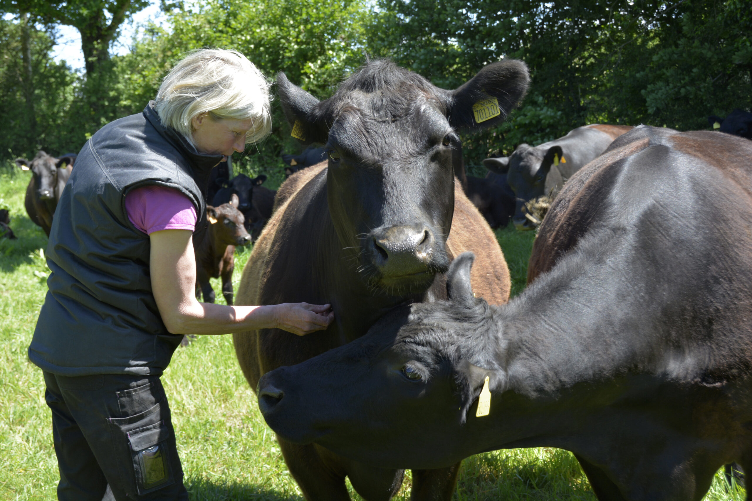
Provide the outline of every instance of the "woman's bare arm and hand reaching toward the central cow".
<path id="1" fill-rule="evenodd" d="M 190 230 L 162 230 L 150 234 L 151 288 L 169 332 L 227 334 L 278 327 L 303 336 L 326 329 L 332 323 L 334 313 L 328 304 L 224 306 L 199 303 L 192 237 Z"/>

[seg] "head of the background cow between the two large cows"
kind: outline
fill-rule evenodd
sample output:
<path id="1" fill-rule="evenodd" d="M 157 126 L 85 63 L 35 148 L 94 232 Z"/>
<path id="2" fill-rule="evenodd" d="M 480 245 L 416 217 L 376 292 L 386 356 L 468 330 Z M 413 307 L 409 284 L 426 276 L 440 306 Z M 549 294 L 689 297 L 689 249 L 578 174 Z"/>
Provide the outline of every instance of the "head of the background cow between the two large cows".
<path id="1" fill-rule="evenodd" d="M 512 222 L 518 230 L 534 229 L 523 213 L 525 202 L 550 193 L 556 194 L 561 189 L 562 177 L 555 163 L 562 155 L 561 146 L 541 149 L 520 144 L 511 156 L 486 158 L 483 161 L 489 171 L 506 174 L 507 183 L 517 198 Z"/>

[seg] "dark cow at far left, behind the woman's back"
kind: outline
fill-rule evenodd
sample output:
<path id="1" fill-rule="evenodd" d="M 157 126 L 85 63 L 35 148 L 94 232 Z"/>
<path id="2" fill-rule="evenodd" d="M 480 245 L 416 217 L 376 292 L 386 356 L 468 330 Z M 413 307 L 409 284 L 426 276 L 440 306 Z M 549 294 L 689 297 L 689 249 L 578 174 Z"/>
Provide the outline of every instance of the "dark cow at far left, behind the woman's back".
<path id="1" fill-rule="evenodd" d="M 60 158 L 47 155 L 41 149 L 32 161 L 16 158 L 16 164 L 24 171 L 32 171 L 32 179 L 26 187 L 24 206 L 35 225 L 40 226 L 47 237 L 50 236 L 52 219 L 57 208 L 57 201 L 62 195 L 65 183 L 71 176 L 76 155 Z"/>

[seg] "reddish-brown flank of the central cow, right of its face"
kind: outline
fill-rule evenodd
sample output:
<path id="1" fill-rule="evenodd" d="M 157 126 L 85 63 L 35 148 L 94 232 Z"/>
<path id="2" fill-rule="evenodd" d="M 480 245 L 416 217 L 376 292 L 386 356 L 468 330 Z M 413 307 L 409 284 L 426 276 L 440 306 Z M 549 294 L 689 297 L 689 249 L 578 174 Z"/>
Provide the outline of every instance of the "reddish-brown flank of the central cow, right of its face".
<path id="1" fill-rule="evenodd" d="M 486 219 L 465 196 L 462 184 L 456 178 L 454 216 L 447 247 L 453 258 L 465 251 L 475 252 L 471 281 L 478 297 L 491 304 L 504 304 L 509 300 L 511 279 L 499 241 Z"/>

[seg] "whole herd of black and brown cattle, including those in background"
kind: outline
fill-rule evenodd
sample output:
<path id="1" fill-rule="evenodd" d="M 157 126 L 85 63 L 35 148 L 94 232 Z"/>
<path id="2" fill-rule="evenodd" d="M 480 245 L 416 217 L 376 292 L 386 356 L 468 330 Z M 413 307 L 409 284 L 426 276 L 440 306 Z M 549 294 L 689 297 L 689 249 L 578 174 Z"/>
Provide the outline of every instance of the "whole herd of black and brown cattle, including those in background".
<path id="1" fill-rule="evenodd" d="M 499 448 L 574 452 L 599 499 L 699 500 L 720 466 L 752 471 L 752 113 L 710 117 L 720 133 L 585 125 L 466 175 L 457 131 L 528 85 L 513 60 L 452 91 L 380 60 L 318 101 L 280 73 L 296 137 L 326 147 L 284 155 L 277 192 L 214 170 L 197 296 L 221 276 L 228 304 L 335 311 L 305 337 L 233 334 L 306 499 L 349 500 L 349 478 L 386 501 L 410 468 L 411 499 L 448 500 L 461 460 Z M 17 161 L 47 234 L 74 160 Z M 508 302 L 491 228 L 534 228 L 541 197 Z"/>

